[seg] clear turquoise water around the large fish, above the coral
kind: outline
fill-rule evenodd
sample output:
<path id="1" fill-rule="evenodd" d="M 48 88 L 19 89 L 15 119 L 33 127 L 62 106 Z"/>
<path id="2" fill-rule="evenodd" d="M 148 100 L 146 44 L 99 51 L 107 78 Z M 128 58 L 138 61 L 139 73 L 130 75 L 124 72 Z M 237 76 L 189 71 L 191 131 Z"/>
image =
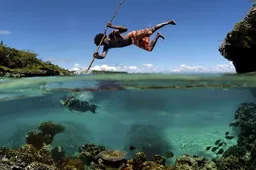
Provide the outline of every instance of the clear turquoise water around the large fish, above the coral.
<path id="1" fill-rule="evenodd" d="M 166 151 L 173 161 L 183 154 L 215 155 L 205 151 L 229 127 L 242 102 L 256 102 L 254 76 L 235 75 L 85 75 L 0 79 L 0 146 L 18 148 L 26 133 L 42 121 L 66 126 L 53 145 L 68 154 L 93 142 L 133 154 L 129 146 L 148 155 Z M 97 113 L 70 111 L 64 96 L 99 106 Z M 227 142 L 227 148 L 236 138 Z M 143 147 L 142 147 L 143 146 Z"/>

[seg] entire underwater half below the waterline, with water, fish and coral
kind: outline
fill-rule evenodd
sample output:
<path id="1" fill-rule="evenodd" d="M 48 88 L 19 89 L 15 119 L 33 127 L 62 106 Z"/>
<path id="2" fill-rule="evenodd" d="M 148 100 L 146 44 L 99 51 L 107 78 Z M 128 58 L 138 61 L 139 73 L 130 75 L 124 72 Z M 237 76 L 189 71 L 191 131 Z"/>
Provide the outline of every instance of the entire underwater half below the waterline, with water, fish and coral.
<path id="1" fill-rule="evenodd" d="M 0 170 L 255 170 L 256 78 L 0 79 Z"/>

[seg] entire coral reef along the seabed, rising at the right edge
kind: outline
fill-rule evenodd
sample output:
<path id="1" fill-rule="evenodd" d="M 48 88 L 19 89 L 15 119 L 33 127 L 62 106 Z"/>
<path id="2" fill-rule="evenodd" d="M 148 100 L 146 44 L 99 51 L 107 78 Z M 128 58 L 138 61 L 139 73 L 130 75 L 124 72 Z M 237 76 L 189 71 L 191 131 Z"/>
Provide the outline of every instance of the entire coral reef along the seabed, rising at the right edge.
<path id="1" fill-rule="evenodd" d="M 235 112 L 235 120 L 231 126 L 239 127 L 237 144 L 229 147 L 223 154 L 209 160 L 201 156 L 181 155 L 173 165 L 166 165 L 167 158 L 157 152 L 163 152 L 162 144 L 152 139 L 159 139 L 161 135 L 156 133 L 153 126 L 135 125 L 130 133 L 139 132 L 136 138 L 128 138 L 136 141 L 139 134 L 143 136 L 146 146 L 153 145 L 153 149 L 145 149 L 145 143 L 136 142 L 134 152 L 127 158 L 127 152 L 110 150 L 101 145 L 85 143 L 79 146 L 78 154 L 67 155 L 65 147 L 52 146 L 54 136 L 64 132 L 67 127 L 54 123 L 43 122 L 39 125 L 39 131 L 30 131 L 26 136 L 27 144 L 18 149 L 0 148 L 1 170 L 255 170 L 256 164 L 256 137 L 255 137 L 256 104 L 241 103 Z M 148 132 L 147 132 L 148 131 Z M 151 133 L 150 133 L 151 132 Z M 152 135 L 154 138 L 149 138 Z M 133 136 L 133 135 L 131 135 Z M 130 137 L 131 137 L 130 136 Z M 155 138 L 158 137 L 158 138 Z M 145 138 L 145 139 L 144 139 Z M 146 140 L 148 139 L 148 140 Z M 218 140 L 221 141 L 221 140 Z M 149 142 L 149 143 L 147 143 Z M 159 148 L 157 148 L 159 147 Z M 158 150 L 157 150 L 158 149 Z M 136 151 L 136 152 L 135 152 Z M 150 156 L 148 156 L 148 155 Z"/>

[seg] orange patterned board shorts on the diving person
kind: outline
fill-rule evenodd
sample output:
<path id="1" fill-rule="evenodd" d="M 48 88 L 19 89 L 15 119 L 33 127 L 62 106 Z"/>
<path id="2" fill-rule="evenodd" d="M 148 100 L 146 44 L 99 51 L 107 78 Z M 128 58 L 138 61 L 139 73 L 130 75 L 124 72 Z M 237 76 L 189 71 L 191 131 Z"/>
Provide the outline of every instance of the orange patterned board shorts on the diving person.
<path id="1" fill-rule="evenodd" d="M 139 48 L 146 51 L 151 51 L 150 48 L 150 36 L 153 34 L 152 29 L 146 28 L 142 30 L 135 30 L 128 34 L 132 39 L 132 43 Z"/>

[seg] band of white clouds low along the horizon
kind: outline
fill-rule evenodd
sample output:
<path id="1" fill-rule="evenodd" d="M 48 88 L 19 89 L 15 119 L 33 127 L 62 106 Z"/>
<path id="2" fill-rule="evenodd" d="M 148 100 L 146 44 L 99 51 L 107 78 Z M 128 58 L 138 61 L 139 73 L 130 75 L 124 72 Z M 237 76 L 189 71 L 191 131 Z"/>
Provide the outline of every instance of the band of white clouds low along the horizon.
<path id="1" fill-rule="evenodd" d="M 87 68 L 80 67 L 79 64 L 75 64 L 71 69 L 77 73 L 85 73 Z M 186 65 L 181 64 L 177 68 L 161 69 L 156 68 L 153 64 L 143 64 L 142 66 L 109 66 L 106 64 L 96 65 L 91 68 L 91 70 L 102 70 L 102 71 L 126 71 L 129 73 L 156 73 L 156 72 L 165 72 L 165 73 L 233 73 L 235 68 L 232 63 L 229 64 L 217 64 L 214 67 L 206 68 L 200 65 Z"/>

